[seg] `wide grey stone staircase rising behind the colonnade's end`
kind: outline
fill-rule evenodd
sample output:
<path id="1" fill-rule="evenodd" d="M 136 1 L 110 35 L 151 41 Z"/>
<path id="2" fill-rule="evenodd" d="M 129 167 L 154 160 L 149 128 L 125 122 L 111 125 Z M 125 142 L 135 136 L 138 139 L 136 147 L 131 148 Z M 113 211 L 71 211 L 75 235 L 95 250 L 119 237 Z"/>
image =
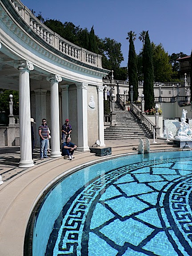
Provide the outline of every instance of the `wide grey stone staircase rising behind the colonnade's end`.
<path id="1" fill-rule="evenodd" d="M 116 126 L 104 129 L 105 140 L 152 138 L 151 132 L 132 111 L 124 111 L 121 105 L 115 102 Z"/>

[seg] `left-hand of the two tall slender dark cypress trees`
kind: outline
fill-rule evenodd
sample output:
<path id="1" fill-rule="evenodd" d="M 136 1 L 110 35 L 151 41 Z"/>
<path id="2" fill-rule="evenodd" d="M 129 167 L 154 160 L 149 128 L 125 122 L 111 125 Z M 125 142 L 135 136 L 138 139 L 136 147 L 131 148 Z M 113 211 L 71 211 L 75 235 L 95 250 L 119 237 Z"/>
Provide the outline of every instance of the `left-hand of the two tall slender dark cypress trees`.
<path id="1" fill-rule="evenodd" d="M 133 36 L 129 36 L 129 52 L 128 52 L 128 79 L 129 79 L 129 91 L 128 97 L 131 101 L 131 85 L 133 86 L 133 100 L 138 100 L 138 76 L 137 76 L 137 62 L 136 62 L 136 52 L 133 44 Z"/>

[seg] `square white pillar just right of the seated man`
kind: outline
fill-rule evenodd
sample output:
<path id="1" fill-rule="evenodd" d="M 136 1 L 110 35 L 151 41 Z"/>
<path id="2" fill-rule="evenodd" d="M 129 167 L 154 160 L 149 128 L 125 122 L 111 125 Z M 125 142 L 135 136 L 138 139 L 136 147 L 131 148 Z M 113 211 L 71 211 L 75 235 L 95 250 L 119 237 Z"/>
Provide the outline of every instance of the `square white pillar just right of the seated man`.
<path id="1" fill-rule="evenodd" d="M 77 87 L 77 122 L 78 150 L 86 151 L 88 147 L 88 115 L 87 115 L 87 86 L 86 83 L 76 83 Z"/>

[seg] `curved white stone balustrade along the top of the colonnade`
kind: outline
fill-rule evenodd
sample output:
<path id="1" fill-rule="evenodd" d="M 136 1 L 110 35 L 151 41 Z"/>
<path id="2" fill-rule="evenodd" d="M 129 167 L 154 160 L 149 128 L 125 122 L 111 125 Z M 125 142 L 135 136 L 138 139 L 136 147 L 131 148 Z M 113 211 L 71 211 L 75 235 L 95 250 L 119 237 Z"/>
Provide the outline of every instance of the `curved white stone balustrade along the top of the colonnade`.
<path id="1" fill-rule="evenodd" d="M 45 42 L 52 45 L 54 48 L 64 53 L 65 55 L 82 61 L 86 64 L 102 68 L 102 56 L 93 52 L 89 52 L 84 48 L 80 48 L 75 44 L 70 43 L 64 38 L 57 35 L 55 32 L 46 27 L 32 14 L 32 12 L 24 6 L 20 0 L 9 0 L 18 14 L 30 26 L 30 28 L 40 36 Z"/>

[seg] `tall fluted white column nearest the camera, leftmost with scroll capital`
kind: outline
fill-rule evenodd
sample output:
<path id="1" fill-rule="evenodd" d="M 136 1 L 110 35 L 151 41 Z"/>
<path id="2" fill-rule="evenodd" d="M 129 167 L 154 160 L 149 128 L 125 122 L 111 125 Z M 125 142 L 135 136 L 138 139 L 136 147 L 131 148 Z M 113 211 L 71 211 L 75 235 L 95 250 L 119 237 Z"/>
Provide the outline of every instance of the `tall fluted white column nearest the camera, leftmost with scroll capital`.
<path id="1" fill-rule="evenodd" d="M 19 167 L 34 166 L 31 144 L 31 111 L 29 71 L 33 70 L 28 60 L 15 62 L 14 67 L 19 71 L 19 116 L 20 116 L 20 162 Z"/>

